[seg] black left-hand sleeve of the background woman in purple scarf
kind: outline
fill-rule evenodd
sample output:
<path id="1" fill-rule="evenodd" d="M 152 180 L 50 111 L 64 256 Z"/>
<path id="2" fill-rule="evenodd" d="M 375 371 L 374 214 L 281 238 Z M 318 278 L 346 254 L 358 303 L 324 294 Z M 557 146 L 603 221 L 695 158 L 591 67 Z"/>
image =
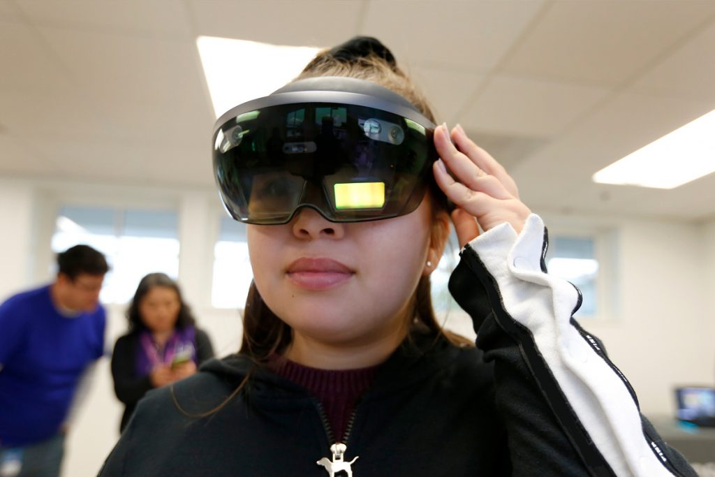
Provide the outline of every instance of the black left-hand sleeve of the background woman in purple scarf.
<path id="1" fill-rule="evenodd" d="M 126 405 L 137 403 L 147 391 L 154 388 L 149 375 L 139 378 L 134 376 L 134 353 L 136 348 L 136 340 L 131 335 L 126 335 L 117 340 L 112 353 L 114 393 Z"/>

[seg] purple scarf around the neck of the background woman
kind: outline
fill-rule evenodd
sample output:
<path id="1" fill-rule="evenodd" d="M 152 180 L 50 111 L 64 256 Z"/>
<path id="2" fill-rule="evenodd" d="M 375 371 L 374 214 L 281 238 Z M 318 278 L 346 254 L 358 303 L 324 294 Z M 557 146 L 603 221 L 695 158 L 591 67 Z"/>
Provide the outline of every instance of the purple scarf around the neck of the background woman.
<path id="1" fill-rule="evenodd" d="M 154 341 L 154 336 L 149 330 L 139 333 L 139 346 L 134 363 L 134 372 L 137 376 L 145 376 L 152 372 L 154 366 L 164 363 L 171 365 L 174 358 L 185 358 L 197 363 L 196 358 L 196 328 L 175 328 L 172 335 L 164 344 L 164 349 Z"/>

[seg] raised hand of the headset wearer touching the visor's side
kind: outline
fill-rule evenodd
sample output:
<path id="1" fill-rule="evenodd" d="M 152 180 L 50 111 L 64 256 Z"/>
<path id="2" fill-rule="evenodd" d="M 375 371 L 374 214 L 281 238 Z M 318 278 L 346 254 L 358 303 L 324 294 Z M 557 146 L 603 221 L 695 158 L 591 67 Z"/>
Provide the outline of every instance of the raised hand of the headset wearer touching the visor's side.
<path id="1" fill-rule="evenodd" d="M 486 232 L 509 222 L 517 233 L 521 232 L 531 210 L 519 200 L 516 182 L 506 169 L 469 139 L 459 125 L 451 134 L 446 124 L 436 127 L 434 140 L 441 157 L 433 164 L 435 180 L 457 206 L 452 221 L 460 247 L 479 235 L 479 227 Z"/>

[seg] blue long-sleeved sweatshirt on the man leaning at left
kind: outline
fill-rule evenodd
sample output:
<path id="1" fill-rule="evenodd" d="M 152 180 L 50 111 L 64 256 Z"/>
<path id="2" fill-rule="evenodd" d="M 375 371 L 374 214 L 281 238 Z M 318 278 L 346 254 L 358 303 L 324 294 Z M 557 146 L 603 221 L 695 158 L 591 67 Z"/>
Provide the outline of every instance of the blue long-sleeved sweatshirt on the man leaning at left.
<path id="1" fill-rule="evenodd" d="M 0 446 L 54 436 L 87 365 L 104 353 L 107 318 L 94 311 L 61 315 L 50 287 L 21 292 L 0 305 Z"/>

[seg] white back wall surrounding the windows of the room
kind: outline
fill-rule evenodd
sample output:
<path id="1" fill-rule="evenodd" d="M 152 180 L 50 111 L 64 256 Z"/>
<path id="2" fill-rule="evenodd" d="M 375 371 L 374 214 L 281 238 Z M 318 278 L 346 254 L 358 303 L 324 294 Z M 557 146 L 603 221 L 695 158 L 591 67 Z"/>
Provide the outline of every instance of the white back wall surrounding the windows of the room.
<path id="1" fill-rule="evenodd" d="M 217 233 L 215 192 L 159 190 L 110 185 L 30 182 L 0 178 L 0 299 L 21 287 L 48 280 L 54 211 L 63 200 L 132 204 L 168 202 L 179 210 L 179 281 L 218 355 L 237 350 L 237 311 L 209 306 L 213 242 Z M 671 414 L 672 388 L 711 385 L 715 377 L 715 220 L 704 224 L 611 217 L 544 214 L 550 227 L 616 230 L 620 260 L 616 277 L 620 307 L 583 325 L 606 343 L 613 361 L 633 383 L 644 413 Z M 470 325 L 453 316 L 456 325 Z M 109 308 L 107 343 L 124 333 L 124 307 Z M 108 358 L 99 365 L 87 403 L 71 429 L 65 476 L 95 475 L 117 438 L 119 405 Z"/>

